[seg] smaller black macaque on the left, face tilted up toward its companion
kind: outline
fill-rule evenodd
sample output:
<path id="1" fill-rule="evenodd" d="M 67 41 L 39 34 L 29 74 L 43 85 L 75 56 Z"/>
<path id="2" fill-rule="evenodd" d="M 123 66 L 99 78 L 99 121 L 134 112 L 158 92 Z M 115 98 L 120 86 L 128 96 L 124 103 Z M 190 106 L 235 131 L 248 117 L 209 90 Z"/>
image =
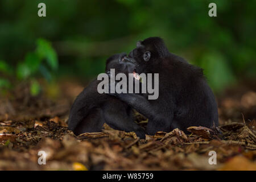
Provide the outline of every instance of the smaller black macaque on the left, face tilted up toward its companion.
<path id="1" fill-rule="evenodd" d="M 125 53 L 113 55 L 106 61 L 106 73 L 110 68 L 117 73 L 133 73 L 134 60 Z M 71 107 L 68 129 L 76 135 L 102 131 L 107 123 L 110 127 L 126 132 L 134 131 L 139 138 L 145 138 L 145 131 L 134 122 L 133 109 L 125 102 L 105 93 L 98 93 L 100 80 L 92 81 L 80 94 Z"/>

